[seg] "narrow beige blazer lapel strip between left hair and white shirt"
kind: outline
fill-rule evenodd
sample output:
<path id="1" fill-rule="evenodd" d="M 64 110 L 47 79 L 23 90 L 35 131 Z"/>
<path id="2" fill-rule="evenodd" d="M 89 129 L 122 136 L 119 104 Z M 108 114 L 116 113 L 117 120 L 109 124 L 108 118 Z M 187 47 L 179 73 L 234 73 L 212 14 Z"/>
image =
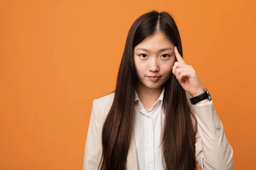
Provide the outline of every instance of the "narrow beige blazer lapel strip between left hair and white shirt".
<path id="1" fill-rule="evenodd" d="M 134 133 L 132 135 L 131 145 L 128 150 L 127 170 L 138 170 L 137 151 L 136 151 L 136 143 L 135 143 L 135 134 Z"/>

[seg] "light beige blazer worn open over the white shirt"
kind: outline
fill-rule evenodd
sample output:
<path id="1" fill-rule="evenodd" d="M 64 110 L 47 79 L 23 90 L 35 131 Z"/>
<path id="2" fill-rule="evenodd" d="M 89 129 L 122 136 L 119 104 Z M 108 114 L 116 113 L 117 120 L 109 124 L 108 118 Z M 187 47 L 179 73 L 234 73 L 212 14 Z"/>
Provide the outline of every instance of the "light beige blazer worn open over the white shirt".
<path id="1" fill-rule="evenodd" d="M 195 157 L 203 170 L 233 170 L 233 148 L 227 141 L 221 120 L 213 102 L 209 105 L 192 105 L 186 93 L 190 108 L 198 121 Z M 102 156 L 102 126 L 111 108 L 114 93 L 93 100 L 90 123 L 84 150 L 83 170 L 97 170 Z M 128 150 L 127 170 L 138 170 L 135 136 L 132 136 Z"/>

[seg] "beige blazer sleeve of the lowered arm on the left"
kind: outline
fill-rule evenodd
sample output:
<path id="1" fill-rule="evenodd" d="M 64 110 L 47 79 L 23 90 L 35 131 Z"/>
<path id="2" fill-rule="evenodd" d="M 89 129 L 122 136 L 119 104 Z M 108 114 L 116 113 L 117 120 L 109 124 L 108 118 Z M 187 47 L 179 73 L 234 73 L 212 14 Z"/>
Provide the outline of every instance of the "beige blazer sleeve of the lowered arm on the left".
<path id="1" fill-rule="evenodd" d="M 83 170 L 97 170 L 102 156 L 102 119 L 99 114 L 96 99 L 93 100 L 93 108 L 87 132 L 84 150 Z"/>

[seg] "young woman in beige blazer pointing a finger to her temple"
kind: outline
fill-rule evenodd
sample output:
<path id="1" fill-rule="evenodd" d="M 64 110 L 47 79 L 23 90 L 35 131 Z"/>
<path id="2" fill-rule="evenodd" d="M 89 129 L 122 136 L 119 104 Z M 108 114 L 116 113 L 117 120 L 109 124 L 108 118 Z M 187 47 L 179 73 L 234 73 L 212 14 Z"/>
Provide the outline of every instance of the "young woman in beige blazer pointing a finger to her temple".
<path id="1" fill-rule="evenodd" d="M 182 56 L 171 14 L 135 20 L 115 91 L 93 100 L 84 170 L 233 169 L 209 92 Z"/>

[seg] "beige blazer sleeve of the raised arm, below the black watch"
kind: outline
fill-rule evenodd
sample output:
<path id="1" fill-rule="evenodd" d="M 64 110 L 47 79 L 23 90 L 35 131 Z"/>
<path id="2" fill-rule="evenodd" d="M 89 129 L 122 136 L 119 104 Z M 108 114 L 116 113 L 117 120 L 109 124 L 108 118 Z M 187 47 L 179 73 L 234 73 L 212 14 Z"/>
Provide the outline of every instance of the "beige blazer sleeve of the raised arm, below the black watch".
<path id="1" fill-rule="evenodd" d="M 202 170 L 233 170 L 233 148 L 227 141 L 221 120 L 212 100 L 206 105 L 193 105 L 198 121 L 195 157 Z"/>

